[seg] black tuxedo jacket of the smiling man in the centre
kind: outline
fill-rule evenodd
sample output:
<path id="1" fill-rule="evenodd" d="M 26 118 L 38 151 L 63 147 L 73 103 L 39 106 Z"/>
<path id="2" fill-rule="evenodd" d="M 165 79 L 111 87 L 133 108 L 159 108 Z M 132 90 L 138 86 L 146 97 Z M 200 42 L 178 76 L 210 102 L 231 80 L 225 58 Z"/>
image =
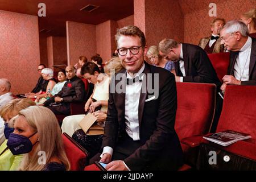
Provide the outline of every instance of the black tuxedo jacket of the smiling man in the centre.
<path id="1" fill-rule="evenodd" d="M 126 70 L 121 73 L 123 73 L 121 82 L 126 82 Z M 159 96 L 155 100 L 145 102 L 148 97 L 151 97 L 148 94 L 149 85 L 147 84 L 147 92 L 141 93 L 138 98 L 141 147 L 137 148 L 124 162 L 131 170 L 144 169 L 150 163 L 154 163 L 162 170 L 177 169 L 182 163 L 182 150 L 174 130 L 177 109 L 175 77 L 171 72 L 146 62 L 143 73 L 146 76 L 152 73 L 153 79 L 147 80 L 149 84 L 154 84 L 154 75 L 159 74 Z M 111 90 L 112 86 L 117 85 L 118 82 L 119 80 L 112 78 L 102 148 L 110 146 L 114 149 L 119 137 L 121 138 L 126 133 L 125 93 L 112 93 Z M 126 84 L 123 85 L 126 89 Z"/>

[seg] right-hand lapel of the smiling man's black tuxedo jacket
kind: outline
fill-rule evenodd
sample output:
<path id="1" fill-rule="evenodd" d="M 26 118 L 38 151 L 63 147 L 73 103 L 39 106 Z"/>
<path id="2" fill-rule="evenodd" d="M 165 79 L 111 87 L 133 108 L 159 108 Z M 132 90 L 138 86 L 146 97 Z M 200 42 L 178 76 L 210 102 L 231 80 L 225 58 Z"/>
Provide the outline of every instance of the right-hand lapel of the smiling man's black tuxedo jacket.
<path id="1" fill-rule="evenodd" d="M 147 74 L 150 73 L 150 66 L 146 63 L 145 63 L 145 68 L 144 68 L 144 78 L 143 78 L 143 81 L 142 81 L 142 87 L 143 86 L 146 86 L 146 93 L 142 93 L 141 92 L 141 95 L 139 96 L 139 128 L 141 128 L 141 122 L 142 122 L 142 117 L 143 117 L 143 111 L 144 111 L 144 104 L 145 104 L 145 100 L 146 100 L 146 97 L 147 97 L 147 90 L 148 90 L 148 78 L 150 77 L 147 77 Z M 145 83 L 145 84 L 144 84 Z M 143 88 L 141 89 L 143 90 Z"/>

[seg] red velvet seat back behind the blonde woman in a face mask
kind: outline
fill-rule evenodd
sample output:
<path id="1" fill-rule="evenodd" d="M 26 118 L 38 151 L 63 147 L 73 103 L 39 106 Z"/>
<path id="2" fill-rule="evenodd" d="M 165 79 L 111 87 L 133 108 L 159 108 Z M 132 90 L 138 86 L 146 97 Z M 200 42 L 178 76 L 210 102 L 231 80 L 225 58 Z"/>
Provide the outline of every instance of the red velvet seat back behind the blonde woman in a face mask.
<path id="1" fill-rule="evenodd" d="M 62 134 L 65 152 L 68 160 L 71 163 L 71 171 L 82 171 L 88 159 L 88 152 L 82 148 L 75 140 L 69 137 L 68 134 Z"/>

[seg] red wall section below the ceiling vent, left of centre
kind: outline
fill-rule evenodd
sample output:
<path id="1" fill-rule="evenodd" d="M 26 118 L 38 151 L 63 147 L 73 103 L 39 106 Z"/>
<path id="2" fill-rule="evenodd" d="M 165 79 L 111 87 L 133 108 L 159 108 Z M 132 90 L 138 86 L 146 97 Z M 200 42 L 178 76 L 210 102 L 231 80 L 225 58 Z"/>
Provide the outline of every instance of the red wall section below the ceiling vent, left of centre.
<path id="1" fill-rule="evenodd" d="M 76 64 L 79 56 L 88 59 L 96 53 L 96 26 L 92 24 L 66 22 L 68 64 Z"/>

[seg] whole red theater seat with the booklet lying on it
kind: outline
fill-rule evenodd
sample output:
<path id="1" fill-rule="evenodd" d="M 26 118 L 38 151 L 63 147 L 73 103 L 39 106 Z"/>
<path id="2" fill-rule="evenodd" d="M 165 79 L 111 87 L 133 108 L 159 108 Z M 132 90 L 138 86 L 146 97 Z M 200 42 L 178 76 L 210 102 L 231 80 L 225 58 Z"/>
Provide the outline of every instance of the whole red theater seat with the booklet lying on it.
<path id="1" fill-rule="evenodd" d="M 251 135 L 251 139 L 241 140 L 229 146 L 223 147 L 208 140 L 203 139 L 200 146 L 199 158 L 203 156 L 203 147 L 213 147 L 218 150 L 218 154 L 226 152 L 233 155 L 233 160 L 230 161 L 230 167 L 234 165 L 237 169 L 248 169 L 248 165 L 254 166 L 256 169 L 256 86 L 244 86 L 244 85 L 228 85 L 226 87 L 223 109 L 220 119 L 217 125 L 217 132 L 225 130 L 233 130 L 241 133 L 248 133 Z M 205 154 L 208 155 L 208 154 Z M 237 157 L 239 156 L 239 157 Z M 234 161 L 236 159 L 236 162 Z M 243 161 L 242 163 L 240 163 Z M 246 162 L 245 162 L 246 161 Z M 199 160 L 203 164 L 203 160 Z M 253 164 L 251 164 L 253 163 Z M 243 168 L 243 164 L 245 168 Z M 215 169 L 225 170 L 228 165 L 224 160 L 221 160 L 217 164 Z M 209 165 L 208 165 L 209 166 Z"/>

